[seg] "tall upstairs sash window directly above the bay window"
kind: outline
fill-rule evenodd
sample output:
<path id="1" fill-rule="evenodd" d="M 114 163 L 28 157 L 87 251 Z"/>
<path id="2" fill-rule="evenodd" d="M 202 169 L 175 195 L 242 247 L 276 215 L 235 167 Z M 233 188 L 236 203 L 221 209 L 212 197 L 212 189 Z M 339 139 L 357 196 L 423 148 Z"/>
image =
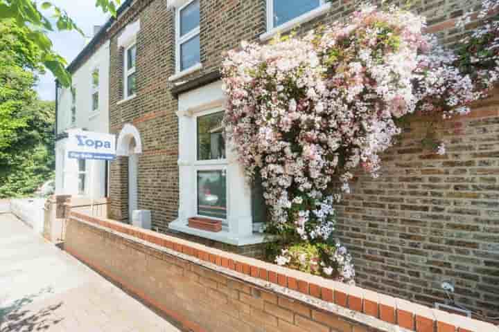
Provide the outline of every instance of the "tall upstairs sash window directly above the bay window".
<path id="1" fill-rule="evenodd" d="M 200 64 L 200 0 L 177 10 L 177 72 Z"/>

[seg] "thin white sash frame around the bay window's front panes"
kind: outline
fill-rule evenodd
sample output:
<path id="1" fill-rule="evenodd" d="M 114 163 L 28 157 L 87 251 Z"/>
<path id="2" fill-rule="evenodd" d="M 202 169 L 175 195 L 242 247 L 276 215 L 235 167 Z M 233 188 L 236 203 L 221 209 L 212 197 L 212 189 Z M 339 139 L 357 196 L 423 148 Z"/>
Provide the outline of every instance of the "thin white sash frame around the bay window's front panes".
<path id="1" fill-rule="evenodd" d="M 195 151 L 195 161 L 194 161 L 194 167 L 193 167 L 193 174 L 191 176 L 194 176 L 195 178 L 195 206 L 196 206 L 196 212 L 194 216 L 198 216 L 200 218 L 209 218 L 209 219 L 215 219 L 215 220 L 220 220 L 222 221 L 222 225 L 228 226 L 227 224 L 227 219 L 222 219 L 222 218 L 216 218 L 213 216 L 203 216 L 202 214 L 198 214 L 198 207 L 199 207 L 199 197 L 198 197 L 198 171 L 222 171 L 225 172 L 225 197 L 227 201 L 227 207 L 226 207 L 226 216 L 229 215 L 229 209 L 230 209 L 230 200 L 229 200 L 229 181 L 230 181 L 230 174 L 229 170 L 227 169 L 227 165 L 229 165 L 229 160 L 227 160 L 227 145 L 226 145 L 226 151 L 225 151 L 225 158 L 219 158 L 219 159 L 208 159 L 208 160 L 198 160 L 198 120 L 199 118 L 202 118 L 203 116 L 208 116 L 213 113 L 219 113 L 223 112 L 224 109 L 223 107 L 216 107 L 214 109 L 209 109 L 207 111 L 201 111 L 199 113 L 196 113 L 193 116 L 194 120 L 194 151 Z"/>

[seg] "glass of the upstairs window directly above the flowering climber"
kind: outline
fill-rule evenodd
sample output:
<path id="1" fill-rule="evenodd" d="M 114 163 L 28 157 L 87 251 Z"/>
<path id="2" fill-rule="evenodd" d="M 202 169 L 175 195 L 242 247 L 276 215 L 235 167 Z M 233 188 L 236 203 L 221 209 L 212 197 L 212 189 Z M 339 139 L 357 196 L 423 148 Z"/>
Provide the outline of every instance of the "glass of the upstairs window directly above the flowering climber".
<path id="1" fill-rule="evenodd" d="M 268 30 L 306 15 L 325 3 L 326 0 L 267 0 Z"/>

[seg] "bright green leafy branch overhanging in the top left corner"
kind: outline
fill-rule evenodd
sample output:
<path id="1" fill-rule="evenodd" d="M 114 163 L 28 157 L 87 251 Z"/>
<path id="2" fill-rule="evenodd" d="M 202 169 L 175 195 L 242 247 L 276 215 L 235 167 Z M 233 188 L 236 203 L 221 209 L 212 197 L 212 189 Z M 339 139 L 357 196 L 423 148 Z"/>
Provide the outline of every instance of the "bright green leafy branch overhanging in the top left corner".
<path id="1" fill-rule="evenodd" d="M 71 0 L 74 1 L 74 0 Z M 82 0 L 78 0 L 82 1 Z M 96 7 L 116 16 L 121 0 L 95 0 Z M 71 84 L 71 75 L 66 71 L 66 60 L 53 50 L 47 33 L 54 30 L 76 30 L 82 33 L 67 12 L 51 1 L 0 0 L 0 23 L 11 21 L 26 32 L 30 42 L 38 47 L 37 66 L 49 69 L 63 86 Z M 55 24 L 52 22 L 55 21 Z"/>

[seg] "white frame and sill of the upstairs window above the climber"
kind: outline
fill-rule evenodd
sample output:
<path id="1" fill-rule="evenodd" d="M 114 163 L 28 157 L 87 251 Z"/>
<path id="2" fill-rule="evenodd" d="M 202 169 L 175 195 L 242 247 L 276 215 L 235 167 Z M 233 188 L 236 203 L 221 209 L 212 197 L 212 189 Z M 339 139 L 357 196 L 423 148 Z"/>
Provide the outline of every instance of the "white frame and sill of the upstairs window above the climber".
<path id="1" fill-rule="evenodd" d="M 274 37 L 279 33 L 285 33 L 286 31 L 292 30 L 299 24 L 303 24 L 307 21 L 315 19 L 331 8 L 331 3 L 326 0 L 319 0 L 319 6 L 309 12 L 305 12 L 280 26 L 274 27 L 274 0 L 267 0 L 267 32 L 260 36 L 261 41 L 266 41 Z"/>

